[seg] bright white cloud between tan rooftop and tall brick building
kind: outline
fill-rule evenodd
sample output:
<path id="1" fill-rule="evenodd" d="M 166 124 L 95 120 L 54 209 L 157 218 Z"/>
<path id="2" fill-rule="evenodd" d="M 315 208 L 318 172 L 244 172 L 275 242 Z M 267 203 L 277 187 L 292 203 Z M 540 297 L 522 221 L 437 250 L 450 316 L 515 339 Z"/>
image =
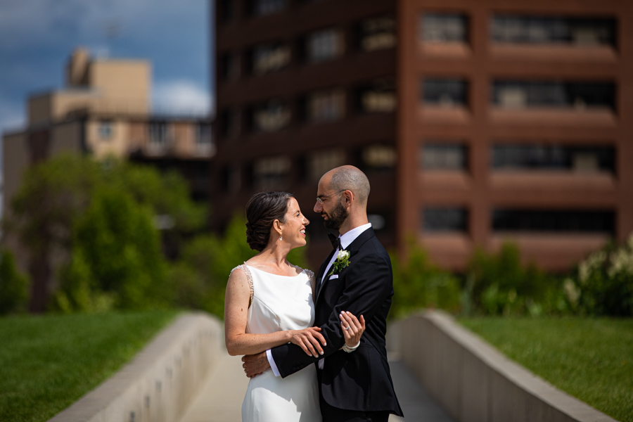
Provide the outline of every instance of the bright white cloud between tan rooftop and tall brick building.
<path id="1" fill-rule="evenodd" d="M 157 82 L 152 104 L 157 114 L 208 115 L 211 111 L 207 90 L 184 79 Z"/>

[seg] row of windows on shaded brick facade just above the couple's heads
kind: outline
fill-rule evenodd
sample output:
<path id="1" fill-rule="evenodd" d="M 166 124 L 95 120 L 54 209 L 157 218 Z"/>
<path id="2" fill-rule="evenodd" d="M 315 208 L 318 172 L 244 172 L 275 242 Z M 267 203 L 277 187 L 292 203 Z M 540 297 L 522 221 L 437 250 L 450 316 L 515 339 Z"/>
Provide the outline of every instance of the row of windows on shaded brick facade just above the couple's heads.
<path id="1" fill-rule="evenodd" d="M 357 151 L 354 159 L 359 167 L 369 172 L 392 170 L 396 160 L 395 148 L 385 144 L 365 146 Z M 236 166 L 224 167 L 222 185 L 229 192 L 238 191 L 243 186 L 258 190 L 276 190 L 291 184 L 293 163 L 298 172 L 294 177 L 313 182 L 318 181 L 329 170 L 347 162 L 347 153 L 340 148 L 312 151 L 301 158 L 291 158 L 288 155 L 259 158 L 243 170 Z"/>

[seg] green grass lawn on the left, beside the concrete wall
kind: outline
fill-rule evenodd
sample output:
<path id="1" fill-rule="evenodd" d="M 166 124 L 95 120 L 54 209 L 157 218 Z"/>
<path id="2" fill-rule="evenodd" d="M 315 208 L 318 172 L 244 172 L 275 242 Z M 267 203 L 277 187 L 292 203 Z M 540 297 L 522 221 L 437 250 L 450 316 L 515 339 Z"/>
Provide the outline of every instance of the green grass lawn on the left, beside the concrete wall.
<path id="1" fill-rule="evenodd" d="M 46 421 L 129 362 L 175 311 L 0 318 L 0 421 Z"/>

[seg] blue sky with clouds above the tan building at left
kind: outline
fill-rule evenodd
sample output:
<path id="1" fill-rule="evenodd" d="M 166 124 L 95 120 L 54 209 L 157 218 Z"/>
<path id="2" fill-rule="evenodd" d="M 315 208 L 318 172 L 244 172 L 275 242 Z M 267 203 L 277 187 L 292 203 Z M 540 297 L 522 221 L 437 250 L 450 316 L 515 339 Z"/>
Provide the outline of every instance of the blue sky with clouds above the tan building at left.
<path id="1" fill-rule="evenodd" d="M 0 132 L 25 124 L 27 96 L 63 87 L 75 46 L 146 58 L 153 108 L 209 112 L 212 0 L 0 0 Z"/>

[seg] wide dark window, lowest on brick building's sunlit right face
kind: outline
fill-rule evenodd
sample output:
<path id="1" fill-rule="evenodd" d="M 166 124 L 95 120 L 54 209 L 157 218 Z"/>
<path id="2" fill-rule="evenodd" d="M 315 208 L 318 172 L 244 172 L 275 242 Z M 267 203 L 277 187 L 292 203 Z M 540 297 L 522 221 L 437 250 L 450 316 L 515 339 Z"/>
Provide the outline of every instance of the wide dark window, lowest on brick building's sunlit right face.
<path id="1" fill-rule="evenodd" d="M 615 212 L 606 210 L 509 210 L 492 212 L 494 231 L 608 233 L 615 229 Z"/>

